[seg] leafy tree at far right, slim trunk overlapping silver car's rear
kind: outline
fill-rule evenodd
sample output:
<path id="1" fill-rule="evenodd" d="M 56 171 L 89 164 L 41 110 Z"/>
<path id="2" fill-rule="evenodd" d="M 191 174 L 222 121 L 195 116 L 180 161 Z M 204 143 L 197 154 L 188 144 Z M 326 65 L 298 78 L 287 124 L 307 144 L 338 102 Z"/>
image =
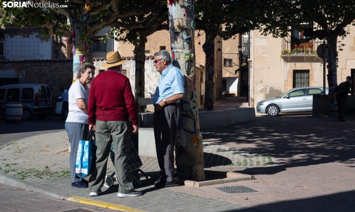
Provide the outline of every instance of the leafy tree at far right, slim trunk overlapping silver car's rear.
<path id="1" fill-rule="evenodd" d="M 291 37 L 294 44 L 312 39 L 325 39 L 328 43 L 327 58 L 329 110 L 336 114 L 334 87 L 337 86 L 338 51 L 344 45 L 338 37 L 348 34 L 347 26 L 355 24 L 355 0 L 260 0 L 264 11 L 260 11 L 263 34 L 273 37 Z M 291 35 L 291 27 L 303 31 L 306 38 Z"/>

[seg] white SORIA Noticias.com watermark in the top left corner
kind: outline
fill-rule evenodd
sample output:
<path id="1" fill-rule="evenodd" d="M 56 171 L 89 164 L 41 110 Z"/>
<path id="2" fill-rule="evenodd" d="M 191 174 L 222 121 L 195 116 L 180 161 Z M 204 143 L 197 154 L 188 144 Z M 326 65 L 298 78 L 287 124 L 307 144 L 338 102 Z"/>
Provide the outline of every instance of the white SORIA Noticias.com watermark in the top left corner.
<path id="1" fill-rule="evenodd" d="M 51 3 L 51 1 L 48 2 L 34 2 L 31 0 L 28 1 L 3 1 L 1 7 L 2 8 L 24 8 L 24 7 L 35 7 L 35 8 L 59 8 L 59 7 L 68 7 L 69 0 L 65 0 L 63 4 L 59 3 Z"/>

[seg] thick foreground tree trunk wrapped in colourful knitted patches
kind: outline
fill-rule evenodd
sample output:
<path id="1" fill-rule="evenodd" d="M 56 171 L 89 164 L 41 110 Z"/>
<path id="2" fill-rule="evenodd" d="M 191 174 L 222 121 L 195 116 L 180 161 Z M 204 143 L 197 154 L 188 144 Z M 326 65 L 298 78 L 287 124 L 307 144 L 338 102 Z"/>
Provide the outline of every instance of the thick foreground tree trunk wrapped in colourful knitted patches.
<path id="1" fill-rule="evenodd" d="M 184 74 L 185 96 L 180 100 L 181 121 L 177 131 L 177 175 L 185 180 L 205 180 L 203 149 L 198 122 L 194 50 L 194 0 L 169 1 L 173 64 Z"/>

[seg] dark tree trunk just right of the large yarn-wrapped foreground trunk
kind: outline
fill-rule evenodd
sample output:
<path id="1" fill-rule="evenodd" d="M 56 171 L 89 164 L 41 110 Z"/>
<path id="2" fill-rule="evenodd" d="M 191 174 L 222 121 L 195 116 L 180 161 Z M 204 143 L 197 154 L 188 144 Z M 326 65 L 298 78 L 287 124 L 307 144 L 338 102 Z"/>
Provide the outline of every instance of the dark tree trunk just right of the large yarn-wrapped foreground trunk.
<path id="1" fill-rule="evenodd" d="M 213 33 L 205 31 L 206 41 L 202 46 L 203 52 L 206 54 L 206 74 L 205 74 L 205 100 L 203 108 L 213 110 L 214 104 L 214 38 Z"/>

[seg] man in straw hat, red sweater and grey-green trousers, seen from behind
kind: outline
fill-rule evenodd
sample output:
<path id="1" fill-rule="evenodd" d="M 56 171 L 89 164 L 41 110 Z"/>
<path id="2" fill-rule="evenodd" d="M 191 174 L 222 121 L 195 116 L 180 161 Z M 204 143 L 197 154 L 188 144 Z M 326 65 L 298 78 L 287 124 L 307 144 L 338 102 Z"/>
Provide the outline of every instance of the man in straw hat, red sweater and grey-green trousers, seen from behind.
<path id="1" fill-rule="evenodd" d="M 96 135 L 96 165 L 92 167 L 89 179 L 90 196 L 98 196 L 104 184 L 107 159 L 111 144 L 114 146 L 114 166 L 118 181 L 117 197 L 136 197 L 142 192 L 135 191 L 128 175 L 129 116 L 133 125 L 132 133 L 138 133 L 138 113 L 129 79 L 121 74 L 126 62 L 118 52 L 109 52 L 102 67 L 107 68 L 93 79 L 88 104 L 89 129 Z M 97 117 L 95 120 L 95 116 Z"/>

